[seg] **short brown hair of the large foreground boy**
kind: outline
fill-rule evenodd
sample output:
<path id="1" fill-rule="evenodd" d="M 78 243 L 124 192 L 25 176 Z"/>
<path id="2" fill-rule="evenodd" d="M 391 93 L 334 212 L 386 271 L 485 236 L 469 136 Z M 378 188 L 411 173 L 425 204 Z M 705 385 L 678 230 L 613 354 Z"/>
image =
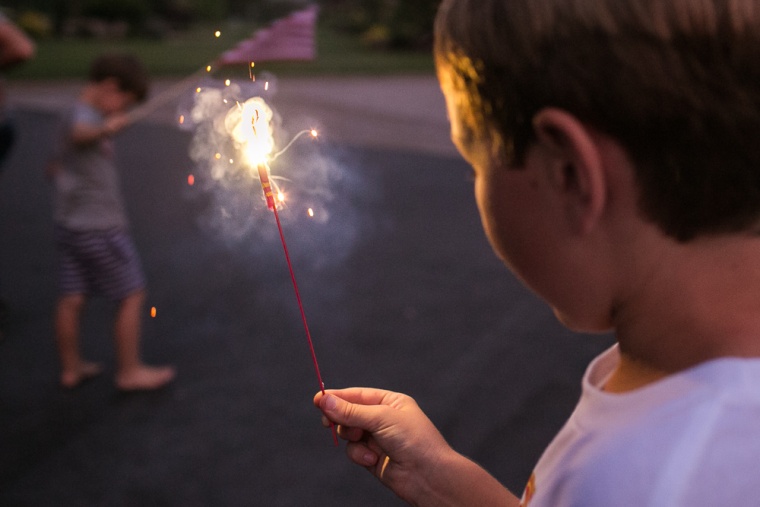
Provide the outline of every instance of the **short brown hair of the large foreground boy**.
<path id="1" fill-rule="evenodd" d="M 510 165 L 559 107 L 626 148 L 665 233 L 757 228 L 757 0 L 444 0 L 435 54 L 471 134 Z"/>

